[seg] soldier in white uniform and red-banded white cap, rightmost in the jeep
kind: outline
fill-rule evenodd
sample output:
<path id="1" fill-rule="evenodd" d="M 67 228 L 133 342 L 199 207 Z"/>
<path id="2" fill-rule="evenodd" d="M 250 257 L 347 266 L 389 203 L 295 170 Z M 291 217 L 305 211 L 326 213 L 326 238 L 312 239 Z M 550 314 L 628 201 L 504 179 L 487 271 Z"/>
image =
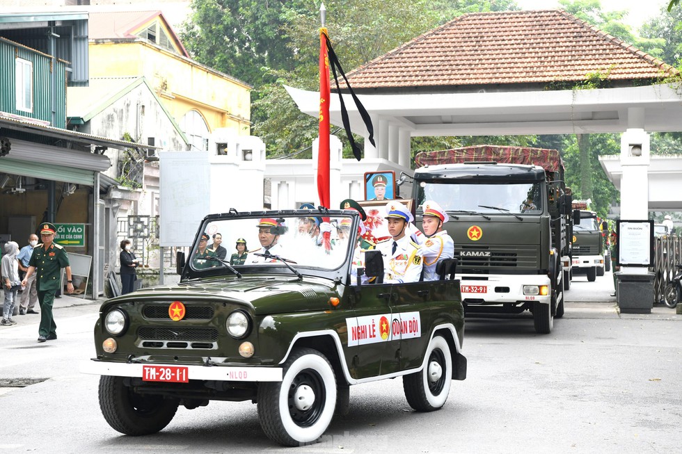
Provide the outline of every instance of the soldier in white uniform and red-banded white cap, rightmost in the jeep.
<path id="1" fill-rule="evenodd" d="M 440 276 L 436 274 L 438 262 L 454 257 L 454 241 L 452 241 L 452 236 L 443 230 L 443 225 L 449 219 L 445 210 L 433 200 L 427 200 L 422 207 L 424 209 L 422 217 L 424 235 L 417 238 L 422 246 L 424 280 L 435 281 L 440 279 Z"/>

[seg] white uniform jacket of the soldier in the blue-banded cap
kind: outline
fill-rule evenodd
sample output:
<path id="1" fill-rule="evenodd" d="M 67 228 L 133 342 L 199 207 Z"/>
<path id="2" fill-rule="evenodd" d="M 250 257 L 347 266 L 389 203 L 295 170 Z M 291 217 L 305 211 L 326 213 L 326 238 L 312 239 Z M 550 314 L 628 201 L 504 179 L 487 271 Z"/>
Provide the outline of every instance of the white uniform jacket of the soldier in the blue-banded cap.
<path id="1" fill-rule="evenodd" d="M 402 283 L 418 282 L 422 275 L 422 249 L 408 235 L 395 241 L 395 252 L 392 252 L 392 238 L 376 244 L 376 249 L 383 255 L 383 282 Z"/>

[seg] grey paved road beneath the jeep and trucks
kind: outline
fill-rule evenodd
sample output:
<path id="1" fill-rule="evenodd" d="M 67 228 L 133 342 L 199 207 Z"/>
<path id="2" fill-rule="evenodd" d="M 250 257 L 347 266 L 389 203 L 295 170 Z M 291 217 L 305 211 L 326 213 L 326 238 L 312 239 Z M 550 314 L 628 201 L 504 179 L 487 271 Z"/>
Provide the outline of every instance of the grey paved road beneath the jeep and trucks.
<path id="1" fill-rule="evenodd" d="M 77 362 L 94 355 L 97 305 L 57 302 L 59 339 L 36 343 L 38 316 L 0 330 L 1 420 L 16 421 L 1 453 L 682 453 L 682 316 L 619 314 L 607 274 L 577 276 L 566 314 L 538 335 L 530 316 L 468 319 L 468 377 L 438 412 L 407 405 L 402 380 L 351 387 L 351 414 L 314 445 L 280 448 L 251 403 L 178 410 L 166 430 L 125 437 L 97 405 L 97 378 Z"/>

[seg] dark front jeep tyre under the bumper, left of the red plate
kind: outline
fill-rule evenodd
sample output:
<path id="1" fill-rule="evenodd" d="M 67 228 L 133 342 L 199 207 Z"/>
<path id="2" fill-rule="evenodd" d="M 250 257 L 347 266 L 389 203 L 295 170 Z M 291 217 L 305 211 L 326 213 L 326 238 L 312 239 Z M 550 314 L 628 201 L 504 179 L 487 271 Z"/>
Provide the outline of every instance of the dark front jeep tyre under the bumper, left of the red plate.
<path id="1" fill-rule="evenodd" d="M 178 401 L 137 394 L 122 377 L 100 377 L 100 410 L 109 425 L 125 435 L 150 435 L 163 429 L 177 412 Z"/>

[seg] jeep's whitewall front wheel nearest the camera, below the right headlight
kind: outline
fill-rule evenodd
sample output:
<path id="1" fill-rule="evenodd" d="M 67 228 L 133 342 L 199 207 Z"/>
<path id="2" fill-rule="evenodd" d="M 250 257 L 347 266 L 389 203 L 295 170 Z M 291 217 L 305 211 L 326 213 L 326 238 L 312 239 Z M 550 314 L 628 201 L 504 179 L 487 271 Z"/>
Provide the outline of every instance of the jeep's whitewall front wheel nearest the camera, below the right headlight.
<path id="1" fill-rule="evenodd" d="M 281 382 L 258 385 L 258 419 L 265 435 L 283 446 L 322 436 L 336 407 L 334 370 L 322 353 L 297 348 L 284 364 Z"/>

